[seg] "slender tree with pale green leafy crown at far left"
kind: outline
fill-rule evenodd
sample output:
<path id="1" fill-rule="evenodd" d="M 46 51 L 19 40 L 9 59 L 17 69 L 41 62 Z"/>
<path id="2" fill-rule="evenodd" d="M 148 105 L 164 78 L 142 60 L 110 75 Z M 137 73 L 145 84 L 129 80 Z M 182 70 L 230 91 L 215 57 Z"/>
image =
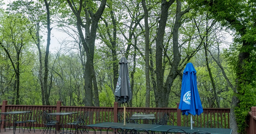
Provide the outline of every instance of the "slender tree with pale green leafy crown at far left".
<path id="1" fill-rule="evenodd" d="M 23 18 L 21 14 L 10 14 L 3 16 L 1 20 L 1 49 L 5 51 L 9 60 L 11 61 L 13 71 L 15 72 L 15 81 L 13 90 L 16 91 L 16 97 L 12 99 L 12 104 L 16 100 L 16 105 L 20 104 L 20 65 L 22 64 L 22 53 L 29 43 L 31 43 L 31 36 L 26 24 L 30 22 Z M 8 49 L 12 46 L 12 49 Z M 12 50 L 15 50 L 14 53 Z"/>

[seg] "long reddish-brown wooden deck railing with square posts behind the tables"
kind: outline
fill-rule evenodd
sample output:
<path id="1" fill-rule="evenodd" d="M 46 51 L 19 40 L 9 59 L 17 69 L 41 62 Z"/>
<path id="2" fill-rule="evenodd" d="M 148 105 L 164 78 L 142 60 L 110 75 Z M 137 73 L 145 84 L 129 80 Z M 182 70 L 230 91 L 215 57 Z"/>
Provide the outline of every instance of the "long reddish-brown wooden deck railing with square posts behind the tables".
<path id="1" fill-rule="evenodd" d="M 117 122 L 117 114 L 123 114 L 124 108 L 118 107 L 118 103 L 114 102 L 114 107 L 75 107 L 75 106 L 61 106 L 61 101 L 57 101 L 56 106 L 27 106 L 27 105 L 8 105 L 7 100 L 3 100 L 3 104 L 0 105 L 1 112 L 7 111 L 26 111 L 31 110 L 33 114 L 36 111 L 44 111 L 46 109 L 52 112 L 61 111 L 76 111 L 78 113 L 88 111 L 89 115 L 86 119 L 87 124 L 100 123 L 100 122 Z M 169 120 L 171 120 L 174 125 L 185 126 L 185 123 L 190 120 L 190 115 L 181 115 L 181 110 L 178 109 L 179 104 L 176 108 L 132 108 L 126 107 L 126 115 L 130 117 L 134 113 L 153 113 L 156 118 L 161 118 L 163 113 L 169 115 Z M 194 120 L 204 124 L 207 121 L 214 120 L 221 123 L 223 128 L 229 128 L 229 108 L 203 108 L 204 112 L 201 115 L 193 116 Z M 4 118 L 5 115 L 1 115 Z M 7 118 L 12 119 L 12 115 L 7 115 Z M 58 117 L 59 118 L 59 117 Z M 57 118 L 57 120 L 58 120 Z M 60 118 L 59 118 L 60 119 Z M 190 124 L 189 124 L 190 125 Z M 39 126 L 43 127 L 42 119 L 39 120 Z M 3 127 L 3 126 L 2 126 Z"/>

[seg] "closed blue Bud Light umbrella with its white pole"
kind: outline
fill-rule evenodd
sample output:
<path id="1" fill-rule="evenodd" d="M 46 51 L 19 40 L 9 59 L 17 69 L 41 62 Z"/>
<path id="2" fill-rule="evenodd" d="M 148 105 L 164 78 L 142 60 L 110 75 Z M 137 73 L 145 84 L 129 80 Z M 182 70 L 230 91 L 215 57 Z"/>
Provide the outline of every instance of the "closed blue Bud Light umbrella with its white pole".
<path id="1" fill-rule="evenodd" d="M 181 83 L 180 106 L 182 115 L 190 115 L 191 129 L 193 129 L 192 115 L 203 113 L 202 103 L 196 84 L 196 69 L 192 63 L 187 63 Z"/>

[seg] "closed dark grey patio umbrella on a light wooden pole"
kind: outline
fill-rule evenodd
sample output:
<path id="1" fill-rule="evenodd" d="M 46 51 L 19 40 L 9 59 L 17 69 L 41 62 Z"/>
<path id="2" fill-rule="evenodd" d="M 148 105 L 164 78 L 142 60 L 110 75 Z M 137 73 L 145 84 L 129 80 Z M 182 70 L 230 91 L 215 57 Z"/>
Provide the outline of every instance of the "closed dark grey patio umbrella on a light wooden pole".
<path id="1" fill-rule="evenodd" d="M 124 103 L 124 125 L 125 125 L 125 103 L 128 103 L 132 99 L 132 91 L 130 86 L 130 78 L 128 72 L 128 61 L 122 56 L 121 60 L 119 61 L 120 70 L 119 70 L 119 77 L 116 84 L 115 90 L 115 97 L 117 101 L 120 103 Z"/>

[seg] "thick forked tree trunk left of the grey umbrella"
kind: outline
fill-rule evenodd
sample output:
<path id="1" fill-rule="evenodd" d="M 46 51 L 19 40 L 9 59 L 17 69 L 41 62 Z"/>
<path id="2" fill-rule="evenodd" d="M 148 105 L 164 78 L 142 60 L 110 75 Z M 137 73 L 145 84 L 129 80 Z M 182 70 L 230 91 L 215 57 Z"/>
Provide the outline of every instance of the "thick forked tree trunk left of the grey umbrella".
<path id="1" fill-rule="evenodd" d="M 96 100 L 95 105 L 96 106 L 100 105 L 99 98 L 98 98 L 99 96 L 98 86 L 96 83 L 96 76 L 95 76 L 95 71 L 93 66 L 93 57 L 94 57 L 94 47 L 95 47 L 95 39 L 96 39 L 98 22 L 105 9 L 106 1 L 107 0 L 102 0 L 99 8 L 96 10 L 94 9 L 96 5 L 93 1 L 80 0 L 79 3 L 74 3 L 74 2 L 71 2 L 70 0 L 67 0 L 69 7 L 71 8 L 72 12 L 76 16 L 77 30 L 86 53 L 85 66 L 87 68 L 85 69 L 85 72 L 84 72 L 84 82 L 85 82 L 84 89 L 88 97 L 86 97 L 86 99 L 84 100 L 85 106 L 93 106 L 92 105 L 93 88 L 94 88 L 94 95 L 97 96 L 97 98 L 94 98 Z M 85 24 L 83 23 L 82 17 L 85 17 L 85 20 L 86 20 Z M 85 35 L 83 33 L 83 28 L 85 30 Z"/>

